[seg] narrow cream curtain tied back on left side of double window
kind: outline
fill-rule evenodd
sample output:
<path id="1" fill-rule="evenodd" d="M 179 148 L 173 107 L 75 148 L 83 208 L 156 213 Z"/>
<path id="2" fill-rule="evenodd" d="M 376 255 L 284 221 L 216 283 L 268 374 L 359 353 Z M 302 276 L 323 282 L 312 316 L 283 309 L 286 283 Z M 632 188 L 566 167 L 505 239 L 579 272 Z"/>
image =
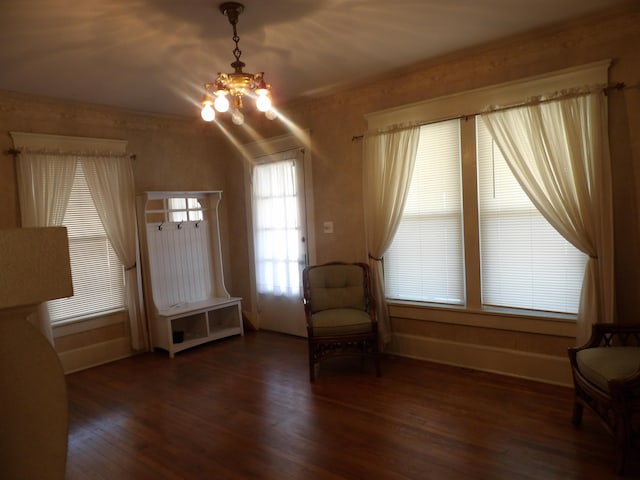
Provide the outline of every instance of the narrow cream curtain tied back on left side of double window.
<path id="1" fill-rule="evenodd" d="M 382 257 L 393 240 L 404 209 L 419 139 L 420 126 L 364 137 L 364 221 L 382 346 L 391 340 Z"/>

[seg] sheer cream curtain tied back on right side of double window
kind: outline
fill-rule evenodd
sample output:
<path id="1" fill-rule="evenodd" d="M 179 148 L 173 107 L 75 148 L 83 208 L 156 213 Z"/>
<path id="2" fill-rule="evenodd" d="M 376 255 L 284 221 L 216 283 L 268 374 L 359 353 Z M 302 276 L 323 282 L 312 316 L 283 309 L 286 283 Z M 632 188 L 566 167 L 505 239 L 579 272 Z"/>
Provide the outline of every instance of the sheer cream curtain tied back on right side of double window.
<path id="1" fill-rule="evenodd" d="M 604 95 L 576 93 L 482 115 L 515 178 L 567 241 L 589 256 L 578 344 L 614 321 L 613 207 Z"/>

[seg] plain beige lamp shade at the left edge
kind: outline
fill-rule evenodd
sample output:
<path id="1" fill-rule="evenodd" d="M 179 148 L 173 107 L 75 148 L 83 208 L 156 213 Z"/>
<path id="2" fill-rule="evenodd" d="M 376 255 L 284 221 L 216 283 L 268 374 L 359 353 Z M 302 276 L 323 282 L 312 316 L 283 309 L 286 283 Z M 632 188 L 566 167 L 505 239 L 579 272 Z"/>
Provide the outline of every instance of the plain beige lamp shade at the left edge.
<path id="1" fill-rule="evenodd" d="M 72 295 L 65 227 L 0 229 L 0 309 Z"/>

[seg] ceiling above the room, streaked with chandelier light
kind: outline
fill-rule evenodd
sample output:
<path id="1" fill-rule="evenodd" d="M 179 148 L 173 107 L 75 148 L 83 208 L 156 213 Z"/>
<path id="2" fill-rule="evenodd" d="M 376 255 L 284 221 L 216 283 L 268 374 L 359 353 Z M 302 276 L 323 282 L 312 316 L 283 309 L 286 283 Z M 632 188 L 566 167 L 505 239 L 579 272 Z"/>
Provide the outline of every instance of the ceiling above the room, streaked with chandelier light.
<path id="1" fill-rule="evenodd" d="M 230 72 L 216 0 L 1 0 L 0 90 L 198 116 Z M 274 102 L 605 9 L 620 0 L 244 0 L 245 71 Z"/>

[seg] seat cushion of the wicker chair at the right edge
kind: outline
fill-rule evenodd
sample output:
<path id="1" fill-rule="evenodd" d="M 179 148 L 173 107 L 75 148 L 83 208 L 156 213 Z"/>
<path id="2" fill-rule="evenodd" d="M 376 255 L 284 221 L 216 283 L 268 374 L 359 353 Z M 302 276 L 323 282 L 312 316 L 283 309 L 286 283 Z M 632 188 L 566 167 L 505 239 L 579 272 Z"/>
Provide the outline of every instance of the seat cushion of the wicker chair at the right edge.
<path id="1" fill-rule="evenodd" d="M 605 392 L 609 380 L 627 378 L 640 369 L 640 347 L 596 347 L 576 355 L 580 372 Z"/>

